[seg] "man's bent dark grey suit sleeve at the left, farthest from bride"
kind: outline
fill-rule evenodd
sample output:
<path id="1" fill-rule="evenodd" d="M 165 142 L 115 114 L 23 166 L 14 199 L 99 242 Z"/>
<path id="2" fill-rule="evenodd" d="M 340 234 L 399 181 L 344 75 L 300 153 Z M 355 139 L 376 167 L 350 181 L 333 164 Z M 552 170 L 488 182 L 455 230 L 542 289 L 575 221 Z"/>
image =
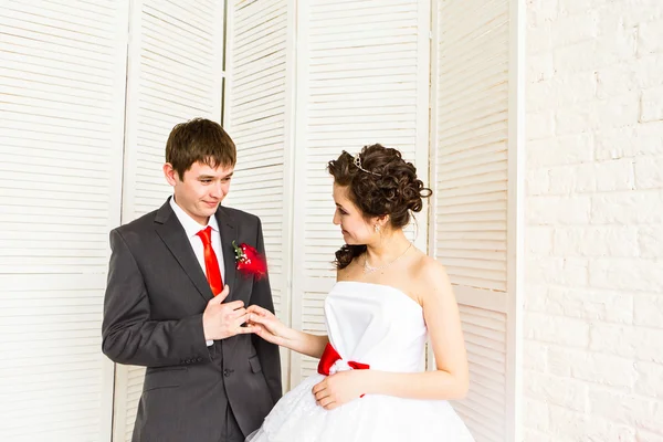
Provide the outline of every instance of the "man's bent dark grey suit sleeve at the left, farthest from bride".
<path id="1" fill-rule="evenodd" d="M 122 233 L 110 232 L 102 350 L 114 362 L 164 367 L 210 361 L 202 314 L 150 320 L 143 274 Z"/>

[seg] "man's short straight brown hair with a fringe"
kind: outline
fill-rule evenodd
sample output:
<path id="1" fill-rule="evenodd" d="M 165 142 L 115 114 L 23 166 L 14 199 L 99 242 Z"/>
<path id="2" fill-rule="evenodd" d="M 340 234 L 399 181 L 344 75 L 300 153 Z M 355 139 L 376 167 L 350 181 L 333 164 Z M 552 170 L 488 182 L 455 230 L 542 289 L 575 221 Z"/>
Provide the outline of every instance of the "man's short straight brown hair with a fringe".
<path id="1" fill-rule="evenodd" d="M 210 167 L 233 167 L 236 148 L 219 123 L 194 118 L 176 125 L 166 141 L 166 162 L 170 162 L 180 180 L 194 162 Z"/>

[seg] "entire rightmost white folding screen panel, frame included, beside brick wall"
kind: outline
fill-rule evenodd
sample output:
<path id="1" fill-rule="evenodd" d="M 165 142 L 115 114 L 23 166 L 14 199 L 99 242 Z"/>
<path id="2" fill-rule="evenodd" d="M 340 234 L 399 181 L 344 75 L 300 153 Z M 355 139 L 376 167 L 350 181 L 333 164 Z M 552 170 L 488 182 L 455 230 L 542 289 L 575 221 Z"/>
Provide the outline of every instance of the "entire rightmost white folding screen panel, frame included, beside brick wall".
<path id="1" fill-rule="evenodd" d="M 515 433 L 517 2 L 439 0 L 430 249 L 460 304 L 471 387 L 454 403 L 477 442 Z"/>

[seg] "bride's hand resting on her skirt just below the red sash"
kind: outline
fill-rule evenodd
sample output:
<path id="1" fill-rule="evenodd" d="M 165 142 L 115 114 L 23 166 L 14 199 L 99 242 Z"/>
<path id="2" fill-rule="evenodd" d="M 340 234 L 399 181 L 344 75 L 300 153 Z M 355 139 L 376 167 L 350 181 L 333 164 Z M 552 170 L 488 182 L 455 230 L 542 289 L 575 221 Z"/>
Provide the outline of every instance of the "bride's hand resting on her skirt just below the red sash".
<path id="1" fill-rule="evenodd" d="M 315 401 L 325 410 L 334 410 L 361 397 L 368 373 L 368 370 L 348 370 L 327 376 L 313 387 Z"/>

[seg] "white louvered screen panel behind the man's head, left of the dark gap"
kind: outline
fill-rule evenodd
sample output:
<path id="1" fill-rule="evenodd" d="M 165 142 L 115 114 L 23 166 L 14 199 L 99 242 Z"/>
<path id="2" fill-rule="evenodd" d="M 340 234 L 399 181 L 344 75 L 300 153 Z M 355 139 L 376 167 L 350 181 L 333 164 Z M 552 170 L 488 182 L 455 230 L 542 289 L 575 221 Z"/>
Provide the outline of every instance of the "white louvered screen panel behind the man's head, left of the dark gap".
<path id="1" fill-rule="evenodd" d="M 172 188 L 164 178 L 172 127 L 194 117 L 221 120 L 223 2 L 140 0 L 131 15 L 127 168 L 123 222 L 158 209 Z M 114 434 L 131 439 L 145 369 L 120 367 Z"/>

